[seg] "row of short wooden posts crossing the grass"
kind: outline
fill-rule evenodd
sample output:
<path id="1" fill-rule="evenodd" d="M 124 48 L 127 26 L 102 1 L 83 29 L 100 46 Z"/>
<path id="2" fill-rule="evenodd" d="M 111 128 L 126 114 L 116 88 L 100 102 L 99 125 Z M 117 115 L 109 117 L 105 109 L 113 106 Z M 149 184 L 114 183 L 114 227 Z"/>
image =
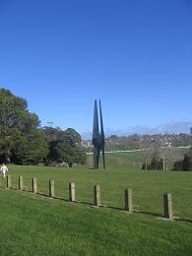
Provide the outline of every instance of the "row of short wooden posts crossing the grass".
<path id="1" fill-rule="evenodd" d="M 11 188 L 11 175 L 7 175 L 7 188 Z M 23 176 L 19 176 L 19 190 L 24 190 L 24 179 Z M 37 193 L 37 179 L 32 178 L 32 193 Z M 132 189 L 125 189 L 124 192 L 125 196 L 125 208 L 124 210 L 129 213 L 133 213 L 133 199 L 132 199 Z M 49 197 L 54 198 L 55 197 L 55 189 L 54 189 L 54 180 L 49 181 Z M 101 206 L 101 200 L 100 200 L 100 186 L 95 185 L 94 186 L 94 206 L 100 207 Z M 69 201 L 70 202 L 76 202 L 76 193 L 75 193 L 75 183 L 70 182 L 69 183 Z M 165 193 L 163 194 L 163 210 L 164 215 L 163 217 L 167 220 L 173 221 L 173 215 L 172 215 L 172 198 L 171 193 Z"/>

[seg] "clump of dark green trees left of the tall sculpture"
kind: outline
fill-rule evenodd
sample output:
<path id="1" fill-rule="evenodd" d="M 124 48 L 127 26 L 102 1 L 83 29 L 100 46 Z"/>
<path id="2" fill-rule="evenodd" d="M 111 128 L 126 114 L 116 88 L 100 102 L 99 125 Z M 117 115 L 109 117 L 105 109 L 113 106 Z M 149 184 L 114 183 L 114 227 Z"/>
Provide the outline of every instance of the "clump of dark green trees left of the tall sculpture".
<path id="1" fill-rule="evenodd" d="M 72 128 L 40 128 L 28 102 L 0 89 L 0 161 L 16 164 L 86 163 L 80 134 Z"/>

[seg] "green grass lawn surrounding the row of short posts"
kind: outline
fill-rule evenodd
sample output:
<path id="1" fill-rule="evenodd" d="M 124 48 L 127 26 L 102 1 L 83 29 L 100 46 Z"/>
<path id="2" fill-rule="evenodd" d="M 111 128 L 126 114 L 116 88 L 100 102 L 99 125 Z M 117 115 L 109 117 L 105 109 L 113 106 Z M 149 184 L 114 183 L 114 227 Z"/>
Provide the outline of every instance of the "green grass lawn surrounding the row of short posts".
<path id="1" fill-rule="evenodd" d="M 141 153 L 107 155 L 108 167 L 9 166 L 13 188 L 23 175 L 26 191 L 4 189 L 0 178 L 0 255 L 192 255 L 192 173 L 142 171 L 132 161 Z M 40 194 L 32 194 L 32 177 Z M 48 181 L 55 180 L 50 199 Z M 78 203 L 68 202 L 76 183 Z M 94 185 L 101 203 L 94 208 Z M 124 189 L 133 189 L 138 212 L 126 214 Z M 173 215 L 161 221 L 162 194 L 172 193 Z"/>

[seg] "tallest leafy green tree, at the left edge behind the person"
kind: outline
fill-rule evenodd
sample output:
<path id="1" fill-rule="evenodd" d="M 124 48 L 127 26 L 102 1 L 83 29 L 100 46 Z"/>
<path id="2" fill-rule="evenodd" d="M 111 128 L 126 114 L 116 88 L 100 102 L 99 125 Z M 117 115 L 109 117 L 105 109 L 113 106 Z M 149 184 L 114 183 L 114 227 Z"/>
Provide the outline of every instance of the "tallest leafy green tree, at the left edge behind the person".
<path id="1" fill-rule="evenodd" d="M 0 159 L 30 164 L 42 161 L 48 153 L 39 119 L 29 112 L 28 102 L 0 89 Z"/>

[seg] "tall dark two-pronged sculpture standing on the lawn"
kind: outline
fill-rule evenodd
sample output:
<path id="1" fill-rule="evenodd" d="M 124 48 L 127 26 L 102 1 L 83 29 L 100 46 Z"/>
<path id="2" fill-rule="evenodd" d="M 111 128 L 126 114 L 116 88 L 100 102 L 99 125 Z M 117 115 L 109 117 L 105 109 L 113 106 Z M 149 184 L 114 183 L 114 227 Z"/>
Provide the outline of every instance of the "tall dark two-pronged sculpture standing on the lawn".
<path id="1" fill-rule="evenodd" d="M 98 169 L 98 161 L 100 156 L 100 151 L 102 153 L 103 168 L 105 169 L 105 159 L 104 159 L 104 130 L 102 122 L 102 111 L 101 104 L 99 100 L 99 116 L 100 116 L 100 132 L 98 129 L 98 113 L 97 113 L 97 102 L 95 100 L 95 110 L 94 110 L 94 128 L 93 128 L 93 145 L 94 145 L 94 166 Z"/>

